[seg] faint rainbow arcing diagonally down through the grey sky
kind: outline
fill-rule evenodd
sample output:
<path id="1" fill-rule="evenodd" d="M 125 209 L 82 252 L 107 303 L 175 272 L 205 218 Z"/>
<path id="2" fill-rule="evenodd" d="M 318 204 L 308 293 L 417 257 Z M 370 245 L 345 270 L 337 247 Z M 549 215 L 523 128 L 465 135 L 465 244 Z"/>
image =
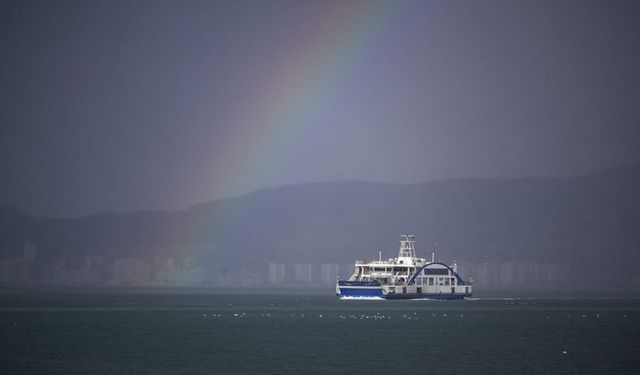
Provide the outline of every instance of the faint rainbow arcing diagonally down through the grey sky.
<path id="1" fill-rule="evenodd" d="M 298 140 L 312 130 L 314 122 L 310 120 L 334 95 L 345 76 L 357 64 L 366 64 L 362 57 L 376 47 L 400 5 L 393 1 L 320 4 L 312 19 L 301 20 L 304 24 L 291 30 L 296 37 L 276 58 L 279 64 L 260 63 L 275 68 L 267 69 L 263 79 L 250 88 L 259 97 L 250 102 L 259 104 L 231 106 L 222 116 L 223 128 L 231 130 L 222 135 L 224 146 L 215 150 L 213 167 L 207 171 L 213 180 L 212 193 L 247 193 L 257 188 L 255 181 L 268 180 L 274 168 L 286 164 L 286 157 L 301 152 L 297 149 Z M 192 229 L 198 235 L 219 237 L 237 224 L 238 215 L 239 212 L 217 212 L 214 218 Z"/>

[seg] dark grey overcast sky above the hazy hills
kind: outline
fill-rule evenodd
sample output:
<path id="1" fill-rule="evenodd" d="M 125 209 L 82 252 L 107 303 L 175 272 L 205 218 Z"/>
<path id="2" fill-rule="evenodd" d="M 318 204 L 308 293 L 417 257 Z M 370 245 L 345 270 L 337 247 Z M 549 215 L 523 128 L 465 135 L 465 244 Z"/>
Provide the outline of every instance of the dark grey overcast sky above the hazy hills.
<path id="1" fill-rule="evenodd" d="M 636 1 L 3 1 L 0 205 L 640 162 Z"/>

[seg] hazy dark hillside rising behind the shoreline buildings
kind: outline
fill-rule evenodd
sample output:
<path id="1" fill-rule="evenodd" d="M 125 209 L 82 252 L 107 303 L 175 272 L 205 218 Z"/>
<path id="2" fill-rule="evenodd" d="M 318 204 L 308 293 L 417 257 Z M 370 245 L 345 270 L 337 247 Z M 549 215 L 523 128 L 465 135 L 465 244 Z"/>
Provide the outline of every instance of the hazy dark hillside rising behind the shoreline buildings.
<path id="1" fill-rule="evenodd" d="M 351 263 L 379 249 L 390 257 L 400 234 L 415 233 L 422 256 L 553 263 L 578 282 L 593 272 L 637 279 L 639 228 L 640 166 L 629 166 L 571 178 L 316 183 L 184 211 L 72 219 L 0 208 L 0 251 L 19 254 L 29 240 L 40 258 L 192 254 L 217 266 L 261 267 Z"/>

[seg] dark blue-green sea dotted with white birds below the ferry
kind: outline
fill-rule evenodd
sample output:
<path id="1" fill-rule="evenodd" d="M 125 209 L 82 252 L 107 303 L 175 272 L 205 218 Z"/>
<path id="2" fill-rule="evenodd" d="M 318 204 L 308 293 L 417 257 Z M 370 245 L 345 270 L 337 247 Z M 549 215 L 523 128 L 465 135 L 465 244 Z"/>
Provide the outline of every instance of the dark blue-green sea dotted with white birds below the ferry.
<path id="1" fill-rule="evenodd" d="M 640 374 L 640 300 L 8 293 L 0 374 Z"/>

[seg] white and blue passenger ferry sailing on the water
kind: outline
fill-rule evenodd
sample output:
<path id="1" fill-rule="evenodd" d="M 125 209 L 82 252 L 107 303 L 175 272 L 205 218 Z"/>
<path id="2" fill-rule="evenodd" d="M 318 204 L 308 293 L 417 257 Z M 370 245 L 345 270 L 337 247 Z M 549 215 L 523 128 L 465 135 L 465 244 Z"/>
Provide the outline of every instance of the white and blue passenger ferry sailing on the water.
<path id="1" fill-rule="evenodd" d="M 400 237 L 397 258 L 382 260 L 357 260 L 355 272 L 349 280 L 336 281 L 339 298 L 383 298 L 383 299 L 464 299 L 471 297 L 472 280 L 463 280 L 458 274 L 458 265 L 436 262 L 435 252 L 431 261 L 418 258 L 415 251 L 416 236 Z"/>

